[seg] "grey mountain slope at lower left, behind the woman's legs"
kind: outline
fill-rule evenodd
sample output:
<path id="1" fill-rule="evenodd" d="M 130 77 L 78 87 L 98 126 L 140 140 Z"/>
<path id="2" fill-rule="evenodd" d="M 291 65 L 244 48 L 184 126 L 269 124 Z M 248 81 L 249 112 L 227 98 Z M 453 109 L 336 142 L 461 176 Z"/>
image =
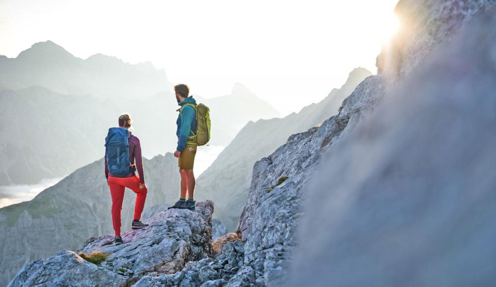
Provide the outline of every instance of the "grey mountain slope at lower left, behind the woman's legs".
<path id="1" fill-rule="evenodd" d="M 179 191 L 177 159 L 170 153 L 143 159 L 149 206 L 173 202 Z M 169 175 L 169 176 L 166 176 Z M 135 194 L 126 191 L 123 231 L 130 229 Z M 0 209 L 0 286 L 36 258 L 61 249 L 74 250 L 86 239 L 113 234 L 112 200 L 105 180 L 103 160 L 78 169 L 33 200 Z M 8 246 L 8 247 L 7 247 Z"/>

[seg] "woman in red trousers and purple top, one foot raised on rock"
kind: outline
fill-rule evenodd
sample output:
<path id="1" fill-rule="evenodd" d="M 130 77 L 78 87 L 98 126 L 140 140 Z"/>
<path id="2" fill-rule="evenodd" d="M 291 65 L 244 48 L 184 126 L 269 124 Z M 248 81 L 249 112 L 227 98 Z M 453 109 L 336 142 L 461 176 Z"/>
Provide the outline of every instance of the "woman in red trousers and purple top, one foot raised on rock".
<path id="1" fill-rule="evenodd" d="M 131 228 L 141 229 L 148 226 L 148 224 L 144 224 L 140 220 L 147 193 L 145 177 L 143 174 L 143 164 L 141 160 L 141 145 L 139 144 L 139 139 L 131 135 L 131 132 L 129 132 L 130 127 L 131 117 L 128 114 L 122 114 L 119 117 L 119 129 L 109 129 L 109 135 L 106 138 L 107 148 L 105 152 L 105 177 L 107 178 L 107 183 L 110 187 L 110 194 L 112 196 L 112 221 L 114 223 L 114 231 L 116 233 L 116 244 L 123 243 L 123 239 L 121 237 L 121 210 L 123 207 L 125 188 L 136 192 L 136 202 L 134 204 L 134 220 L 132 221 Z M 128 143 L 128 148 L 127 143 L 123 143 L 122 146 L 124 146 L 124 148 L 117 148 L 117 157 L 122 156 L 122 154 L 120 154 L 120 151 L 122 152 L 124 150 L 124 152 L 126 152 L 128 150 L 129 165 L 127 165 L 127 162 L 125 163 L 125 165 L 123 165 L 124 173 L 118 173 L 116 171 L 113 175 L 112 172 L 109 172 L 109 167 L 111 168 L 111 170 L 117 170 L 117 167 L 114 163 L 114 156 L 116 155 L 116 153 L 112 153 L 112 146 L 116 146 L 115 144 L 120 144 L 115 141 L 116 137 L 111 138 L 116 133 L 124 135 L 124 137 L 121 137 L 119 139 L 124 139 L 124 141 L 127 141 Z M 108 160 L 108 158 L 111 158 L 112 160 Z M 111 165 L 108 165 L 108 162 L 111 161 L 113 163 Z M 117 164 L 119 164 L 119 160 L 117 160 Z M 127 172 L 127 167 L 128 173 L 125 174 L 125 172 Z M 136 176 L 136 170 L 138 171 L 139 177 Z"/>

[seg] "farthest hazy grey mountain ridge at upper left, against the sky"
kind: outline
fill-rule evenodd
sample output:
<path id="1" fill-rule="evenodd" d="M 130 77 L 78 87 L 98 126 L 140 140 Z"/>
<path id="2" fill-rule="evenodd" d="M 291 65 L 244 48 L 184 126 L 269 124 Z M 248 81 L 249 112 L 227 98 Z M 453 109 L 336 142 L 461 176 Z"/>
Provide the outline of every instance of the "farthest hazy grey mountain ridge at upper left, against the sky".
<path id="1" fill-rule="evenodd" d="M 81 59 L 52 41 L 36 43 L 16 58 L 0 56 L 0 79 L 0 86 L 13 90 L 42 86 L 60 94 L 114 98 L 141 98 L 174 86 L 150 62 L 131 65 L 103 54 Z"/>

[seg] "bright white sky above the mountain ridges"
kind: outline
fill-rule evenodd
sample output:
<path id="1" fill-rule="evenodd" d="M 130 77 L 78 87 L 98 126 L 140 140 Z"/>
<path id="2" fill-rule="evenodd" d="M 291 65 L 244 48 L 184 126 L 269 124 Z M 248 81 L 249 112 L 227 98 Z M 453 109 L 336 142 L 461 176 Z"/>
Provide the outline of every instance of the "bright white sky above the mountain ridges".
<path id="1" fill-rule="evenodd" d="M 151 61 L 204 97 L 236 82 L 283 115 L 375 73 L 397 0 L 0 0 L 0 54 L 52 40 L 73 55 Z"/>

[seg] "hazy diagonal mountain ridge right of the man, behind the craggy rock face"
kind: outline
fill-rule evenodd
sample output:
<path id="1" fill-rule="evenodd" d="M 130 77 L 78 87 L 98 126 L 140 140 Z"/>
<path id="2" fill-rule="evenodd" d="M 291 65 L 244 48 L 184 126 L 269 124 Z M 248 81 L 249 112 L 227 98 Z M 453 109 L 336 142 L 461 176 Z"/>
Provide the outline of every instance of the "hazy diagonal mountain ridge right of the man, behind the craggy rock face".
<path id="1" fill-rule="evenodd" d="M 229 231 L 234 231 L 247 200 L 253 164 L 284 144 L 292 134 L 316 126 L 335 114 L 343 99 L 370 75 L 366 69 L 356 68 L 341 89 L 334 89 L 319 103 L 284 118 L 249 122 L 198 178 L 196 196 L 214 200 L 214 217 L 224 222 Z"/>

